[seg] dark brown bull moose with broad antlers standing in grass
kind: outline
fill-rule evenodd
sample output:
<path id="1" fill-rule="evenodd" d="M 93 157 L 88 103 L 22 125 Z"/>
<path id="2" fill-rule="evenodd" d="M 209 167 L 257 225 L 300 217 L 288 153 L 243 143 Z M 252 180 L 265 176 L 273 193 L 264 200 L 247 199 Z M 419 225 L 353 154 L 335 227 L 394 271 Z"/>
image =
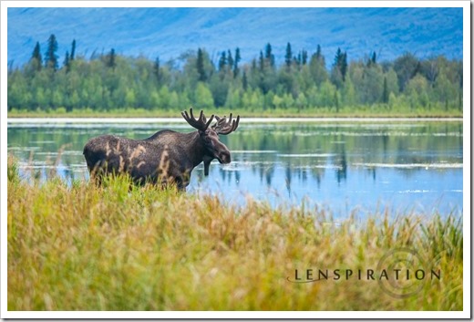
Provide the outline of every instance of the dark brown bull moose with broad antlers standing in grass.
<path id="1" fill-rule="evenodd" d="M 209 174 L 211 161 L 231 162 L 231 152 L 219 140 L 237 130 L 240 116 L 229 120 L 212 115 L 208 120 L 203 111 L 198 119 L 187 111 L 182 117 L 197 131 L 180 133 L 174 130 L 160 130 L 144 140 L 130 140 L 115 135 L 103 135 L 88 141 L 84 157 L 88 163 L 91 178 L 101 182 L 110 173 L 128 173 L 133 182 L 144 184 L 174 184 L 186 190 L 191 171 L 204 161 L 204 175 Z M 191 116 L 190 116 L 191 115 Z M 216 123 L 211 125 L 212 119 Z M 210 126 L 211 125 L 211 126 Z"/>

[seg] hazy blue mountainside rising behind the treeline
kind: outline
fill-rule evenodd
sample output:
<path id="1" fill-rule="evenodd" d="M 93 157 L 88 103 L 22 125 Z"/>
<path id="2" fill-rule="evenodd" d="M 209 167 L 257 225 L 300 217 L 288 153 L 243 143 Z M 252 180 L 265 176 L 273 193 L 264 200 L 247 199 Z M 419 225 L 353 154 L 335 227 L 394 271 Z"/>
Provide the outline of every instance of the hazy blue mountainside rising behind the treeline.
<path id="1" fill-rule="evenodd" d="M 89 58 L 115 48 L 119 54 L 160 57 L 162 62 L 204 47 L 216 61 L 222 50 L 241 48 L 242 61 L 272 44 L 277 62 L 291 43 L 294 54 L 311 55 L 321 45 L 330 64 L 337 47 L 349 60 L 376 51 L 391 60 L 462 58 L 462 8 L 8 8 L 8 61 L 30 57 L 36 41 L 46 51 L 57 36 L 62 62 L 73 39 L 77 55 Z"/>

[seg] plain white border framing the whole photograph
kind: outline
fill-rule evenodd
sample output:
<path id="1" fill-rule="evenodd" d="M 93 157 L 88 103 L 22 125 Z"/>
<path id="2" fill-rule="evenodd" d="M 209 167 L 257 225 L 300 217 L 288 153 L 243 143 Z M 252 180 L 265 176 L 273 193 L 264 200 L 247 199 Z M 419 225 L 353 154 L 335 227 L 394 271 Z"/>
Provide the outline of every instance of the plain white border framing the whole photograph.
<path id="1" fill-rule="evenodd" d="M 9 7 L 461 7 L 463 8 L 463 311 L 159 311 L 159 312 L 50 312 L 7 310 L 7 10 Z M 1 317 L 2 318 L 469 318 L 470 297 L 470 2 L 469 1 L 2 1 L 1 21 Z"/>

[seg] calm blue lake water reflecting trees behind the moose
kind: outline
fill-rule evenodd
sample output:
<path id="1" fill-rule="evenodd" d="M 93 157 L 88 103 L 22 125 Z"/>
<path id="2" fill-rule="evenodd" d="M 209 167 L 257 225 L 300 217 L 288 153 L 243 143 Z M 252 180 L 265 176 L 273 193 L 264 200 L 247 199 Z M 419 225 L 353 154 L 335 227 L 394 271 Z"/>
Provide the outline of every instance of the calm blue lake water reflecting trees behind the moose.
<path id="1" fill-rule="evenodd" d="M 8 151 L 25 178 L 33 173 L 44 179 L 56 169 L 67 181 L 88 180 L 82 149 L 90 138 L 110 133 L 144 139 L 163 129 L 192 130 L 182 119 L 12 119 Z M 304 199 L 335 217 L 386 207 L 462 215 L 462 131 L 462 121 L 242 119 L 236 132 L 222 136 L 232 163 L 213 161 L 208 177 L 201 164 L 188 192 L 219 193 L 231 203 L 252 195 L 274 206 Z"/>

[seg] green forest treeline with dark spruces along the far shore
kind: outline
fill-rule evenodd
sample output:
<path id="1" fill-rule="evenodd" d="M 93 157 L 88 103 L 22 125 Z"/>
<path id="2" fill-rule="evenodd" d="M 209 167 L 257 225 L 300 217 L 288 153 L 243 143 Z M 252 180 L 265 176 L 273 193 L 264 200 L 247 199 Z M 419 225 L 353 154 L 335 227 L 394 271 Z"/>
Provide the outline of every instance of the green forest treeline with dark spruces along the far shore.
<path id="1" fill-rule="evenodd" d="M 246 63 L 238 47 L 217 57 L 198 48 L 165 63 L 114 49 L 88 58 L 76 51 L 74 40 L 60 59 L 54 35 L 44 53 L 36 43 L 29 62 L 8 68 L 8 110 L 462 110 L 462 60 L 444 56 L 350 60 L 340 48 L 325 57 L 319 45 L 309 53 L 290 43 L 281 64 L 271 44 Z"/>

